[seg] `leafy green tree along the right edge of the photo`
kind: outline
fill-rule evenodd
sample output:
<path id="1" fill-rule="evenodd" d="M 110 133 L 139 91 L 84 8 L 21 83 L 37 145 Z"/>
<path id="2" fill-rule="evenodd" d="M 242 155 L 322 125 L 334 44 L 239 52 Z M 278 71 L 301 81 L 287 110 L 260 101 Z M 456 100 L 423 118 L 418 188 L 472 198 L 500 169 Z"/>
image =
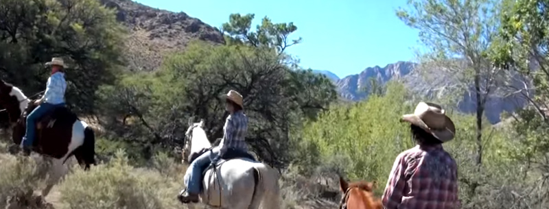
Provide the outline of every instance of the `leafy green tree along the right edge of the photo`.
<path id="1" fill-rule="evenodd" d="M 526 79 L 524 88 L 516 88 L 528 99 L 529 106 L 519 110 L 511 127 L 519 145 L 513 156 L 526 164 L 524 176 L 549 172 L 549 58 L 546 48 L 549 43 L 549 1 L 505 1 L 502 14 L 500 39 L 492 43 L 493 60 L 505 69 L 519 73 Z M 534 92 L 535 90 L 535 92 Z M 540 180 L 547 180 L 542 176 Z M 536 183 L 535 183 L 536 184 Z M 532 201 L 544 202 L 536 197 L 545 190 L 529 193 Z M 535 195 L 533 195 L 535 194 Z"/>

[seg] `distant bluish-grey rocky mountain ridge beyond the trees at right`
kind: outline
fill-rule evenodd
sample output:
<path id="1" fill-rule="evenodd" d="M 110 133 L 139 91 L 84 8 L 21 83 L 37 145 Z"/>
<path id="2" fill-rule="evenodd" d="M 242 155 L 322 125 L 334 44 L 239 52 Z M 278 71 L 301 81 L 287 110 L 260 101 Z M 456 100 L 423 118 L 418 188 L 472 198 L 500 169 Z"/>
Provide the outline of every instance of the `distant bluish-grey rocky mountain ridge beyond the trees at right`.
<path id="1" fill-rule="evenodd" d="M 336 85 L 343 99 L 360 101 L 368 97 L 361 89 L 369 85 L 370 79 L 375 79 L 379 85 L 384 85 L 390 80 L 399 80 L 408 90 L 431 98 L 443 97 L 445 93 L 449 92 L 449 89 L 458 84 L 452 75 L 445 75 L 441 71 L 437 71 L 437 75 L 430 75 L 428 79 L 425 79 L 423 75 L 420 75 L 417 66 L 413 62 L 397 62 L 384 67 L 369 67 L 359 74 L 349 75 L 338 80 Z M 512 85 L 520 88 L 523 84 L 515 82 Z M 474 89 L 472 86 L 469 89 L 463 92 L 458 101 L 457 106 L 460 112 L 476 112 Z M 487 99 L 484 114 L 490 123 L 495 124 L 500 122 L 502 112 L 513 112 L 525 105 L 526 100 L 519 95 L 492 95 Z"/>

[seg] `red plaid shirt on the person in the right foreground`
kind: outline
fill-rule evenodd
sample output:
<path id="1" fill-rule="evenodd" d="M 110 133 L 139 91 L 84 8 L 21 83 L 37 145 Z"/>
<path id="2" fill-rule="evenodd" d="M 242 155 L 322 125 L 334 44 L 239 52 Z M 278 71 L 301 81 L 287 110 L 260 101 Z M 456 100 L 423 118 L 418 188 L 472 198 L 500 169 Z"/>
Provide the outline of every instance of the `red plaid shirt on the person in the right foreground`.
<path id="1" fill-rule="evenodd" d="M 387 209 L 454 209 L 458 200 L 456 161 L 442 145 L 417 145 L 397 157 L 382 197 Z"/>

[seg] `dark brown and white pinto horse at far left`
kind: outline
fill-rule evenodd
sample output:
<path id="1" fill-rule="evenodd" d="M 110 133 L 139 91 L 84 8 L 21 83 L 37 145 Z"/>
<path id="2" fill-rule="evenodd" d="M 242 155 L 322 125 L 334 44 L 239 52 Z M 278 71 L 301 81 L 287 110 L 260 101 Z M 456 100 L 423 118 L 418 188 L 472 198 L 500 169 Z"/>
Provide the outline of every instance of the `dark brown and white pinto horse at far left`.
<path id="1" fill-rule="evenodd" d="M 19 88 L 0 81 L 0 106 L 10 116 L 13 143 L 20 145 L 25 135 L 27 114 L 36 108 L 34 102 L 27 99 Z M 62 176 L 65 161 L 71 156 L 75 156 L 84 170 L 95 164 L 95 134 L 91 126 L 80 121 L 66 107 L 56 108 L 38 119 L 33 150 L 52 159 L 52 170 L 42 191 L 45 197 Z"/>

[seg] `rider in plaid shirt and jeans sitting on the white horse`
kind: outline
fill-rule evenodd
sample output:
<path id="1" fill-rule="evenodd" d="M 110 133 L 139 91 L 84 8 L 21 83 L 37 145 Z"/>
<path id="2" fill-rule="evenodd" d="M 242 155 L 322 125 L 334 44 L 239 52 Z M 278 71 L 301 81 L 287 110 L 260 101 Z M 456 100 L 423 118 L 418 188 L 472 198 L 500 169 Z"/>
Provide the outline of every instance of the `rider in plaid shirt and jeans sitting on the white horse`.
<path id="1" fill-rule="evenodd" d="M 198 202 L 198 193 L 200 193 L 201 177 L 202 177 L 202 168 L 210 163 L 215 166 L 215 164 L 220 159 L 220 156 L 224 156 L 227 150 L 231 151 L 248 151 L 248 145 L 244 138 L 246 137 L 246 132 L 248 132 L 248 117 L 244 114 L 244 105 L 242 95 L 237 93 L 235 90 L 229 90 L 229 93 L 224 95 L 226 101 L 226 111 L 229 112 L 229 116 L 225 121 L 223 127 L 224 134 L 221 139 L 220 145 L 213 148 L 212 151 L 207 151 L 201 156 L 196 158 L 189 169 L 191 170 L 191 175 L 189 176 L 188 182 L 185 182 L 187 185 L 186 190 L 182 190 L 178 195 L 179 201 L 182 203 L 189 202 Z M 213 159 L 210 161 L 210 159 Z"/>

